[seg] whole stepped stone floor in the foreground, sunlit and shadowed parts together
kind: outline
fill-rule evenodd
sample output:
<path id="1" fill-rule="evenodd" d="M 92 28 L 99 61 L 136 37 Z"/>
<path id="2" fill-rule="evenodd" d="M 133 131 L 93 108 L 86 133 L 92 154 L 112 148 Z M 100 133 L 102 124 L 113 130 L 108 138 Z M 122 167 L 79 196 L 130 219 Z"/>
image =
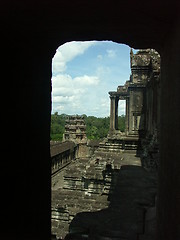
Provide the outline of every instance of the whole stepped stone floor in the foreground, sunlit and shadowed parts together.
<path id="1" fill-rule="evenodd" d="M 143 169 L 134 153 L 112 159 L 108 171 L 103 159 L 73 162 L 53 180 L 57 238 L 154 239 L 156 172 Z"/>

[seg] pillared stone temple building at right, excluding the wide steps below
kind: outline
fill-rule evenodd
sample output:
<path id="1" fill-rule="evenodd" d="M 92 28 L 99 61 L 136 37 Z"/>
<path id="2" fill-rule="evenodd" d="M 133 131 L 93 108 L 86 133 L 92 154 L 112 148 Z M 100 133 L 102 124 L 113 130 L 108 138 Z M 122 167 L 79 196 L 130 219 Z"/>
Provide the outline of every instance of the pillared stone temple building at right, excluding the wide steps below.
<path id="1" fill-rule="evenodd" d="M 121 143 L 123 149 L 137 149 L 140 138 L 156 135 L 159 126 L 160 55 L 152 49 L 130 53 L 131 76 L 124 86 L 109 92 L 109 142 Z M 126 101 L 125 133 L 118 130 L 118 103 Z"/>

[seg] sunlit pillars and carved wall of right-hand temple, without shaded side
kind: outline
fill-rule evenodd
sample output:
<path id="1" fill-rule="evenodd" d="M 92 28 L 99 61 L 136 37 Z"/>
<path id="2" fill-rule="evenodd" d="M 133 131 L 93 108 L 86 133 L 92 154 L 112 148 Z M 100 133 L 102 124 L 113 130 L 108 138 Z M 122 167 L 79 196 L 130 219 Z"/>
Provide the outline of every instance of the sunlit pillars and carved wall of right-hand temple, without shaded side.
<path id="1" fill-rule="evenodd" d="M 110 111 L 110 132 L 109 136 L 121 136 L 118 131 L 118 101 L 126 100 L 126 132 L 125 136 L 139 138 L 139 135 L 148 128 L 152 129 L 152 119 L 157 123 L 156 118 L 152 116 L 153 111 L 157 112 L 150 104 L 159 104 L 151 97 L 147 89 L 147 84 L 152 86 L 159 81 L 160 74 L 160 56 L 151 49 L 140 50 L 133 54 L 131 50 L 131 76 L 124 86 L 118 86 L 116 92 L 109 92 L 111 99 Z M 154 91 L 154 89 L 152 89 Z M 153 92 L 154 93 L 154 92 Z M 154 94 L 155 95 L 155 94 Z M 156 98 L 157 94 L 156 94 Z M 158 108 L 159 109 L 159 108 Z M 146 116 L 146 114 L 148 114 Z M 154 126 L 156 128 L 156 126 Z"/>

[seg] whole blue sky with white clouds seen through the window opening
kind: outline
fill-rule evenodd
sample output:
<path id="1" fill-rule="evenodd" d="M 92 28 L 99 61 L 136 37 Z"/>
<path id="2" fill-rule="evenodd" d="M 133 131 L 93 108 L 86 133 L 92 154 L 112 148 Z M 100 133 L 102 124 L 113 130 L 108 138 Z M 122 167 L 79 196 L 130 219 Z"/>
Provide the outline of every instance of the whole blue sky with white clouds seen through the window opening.
<path id="1" fill-rule="evenodd" d="M 69 42 L 52 61 L 52 113 L 107 117 L 109 91 L 130 76 L 130 47 L 111 41 Z M 119 102 L 119 115 L 125 112 Z"/>

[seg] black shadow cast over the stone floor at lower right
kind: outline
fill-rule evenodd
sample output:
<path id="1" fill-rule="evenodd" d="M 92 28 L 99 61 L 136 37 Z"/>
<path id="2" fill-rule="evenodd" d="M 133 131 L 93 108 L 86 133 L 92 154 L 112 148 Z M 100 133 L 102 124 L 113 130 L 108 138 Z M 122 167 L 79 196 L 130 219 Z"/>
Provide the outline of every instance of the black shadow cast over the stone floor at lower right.
<path id="1" fill-rule="evenodd" d="M 112 185 L 111 185 L 112 186 Z M 137 239 L 143 233 L 144 215 L 154 206 L 157 176 L 138 166 L 124 166 L 118 171 L 109 206 L 97 212 L 78 213 L 70 224 L 70 232 L 81 232 L 111 239 Z M 152 234 L 153 235 L 153 234 Z M 154 236 L 154 235 L 153 235 Z M 99 238 L 98 238 L 99 239 Z"/>

